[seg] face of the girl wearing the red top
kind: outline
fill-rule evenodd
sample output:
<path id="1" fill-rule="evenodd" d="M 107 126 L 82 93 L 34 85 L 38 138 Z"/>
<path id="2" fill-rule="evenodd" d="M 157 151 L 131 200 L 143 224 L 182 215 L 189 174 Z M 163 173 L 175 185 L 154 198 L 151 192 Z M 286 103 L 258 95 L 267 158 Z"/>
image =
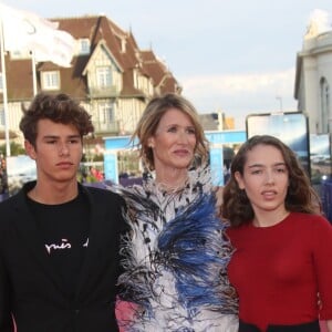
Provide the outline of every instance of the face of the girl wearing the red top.
<path id="1" fill-rule="evenodd" d="M 240 189 L 245 189 L 255 215 L 267 211 L 284 212 L 289 172 L 281 152 L 259 144 L 247 153 L 243 175 L 235 174 Z"/>

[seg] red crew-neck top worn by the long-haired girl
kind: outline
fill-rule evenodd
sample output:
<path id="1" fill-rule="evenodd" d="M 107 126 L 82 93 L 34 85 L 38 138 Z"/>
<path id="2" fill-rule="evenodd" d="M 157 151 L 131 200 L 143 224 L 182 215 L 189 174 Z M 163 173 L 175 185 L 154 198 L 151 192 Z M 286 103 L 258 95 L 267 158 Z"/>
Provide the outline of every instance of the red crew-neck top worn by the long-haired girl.
<path id="1" fill-rule="evenodd" d="M 332 226 L 321 216 L 291 212 L 271 227 L 228 229 L 236 248 L 228 267 L 239 317 L 269 324 L 332 319 Z M 318 308 L 318 292 L 322 309 Z"/>

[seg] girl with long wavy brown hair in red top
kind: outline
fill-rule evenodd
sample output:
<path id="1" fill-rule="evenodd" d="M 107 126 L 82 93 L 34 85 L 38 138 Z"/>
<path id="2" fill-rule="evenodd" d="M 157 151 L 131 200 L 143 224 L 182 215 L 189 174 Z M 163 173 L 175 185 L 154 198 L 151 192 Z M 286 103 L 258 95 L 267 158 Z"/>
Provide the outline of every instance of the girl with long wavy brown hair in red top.
<path id="1" fill-rule="evenodd" d="M 236 251 L 228 267 L 239 331 L 332 331 L 332 227 L 295 154 L 253 136 L 231 164 L 221 215 Z"/>

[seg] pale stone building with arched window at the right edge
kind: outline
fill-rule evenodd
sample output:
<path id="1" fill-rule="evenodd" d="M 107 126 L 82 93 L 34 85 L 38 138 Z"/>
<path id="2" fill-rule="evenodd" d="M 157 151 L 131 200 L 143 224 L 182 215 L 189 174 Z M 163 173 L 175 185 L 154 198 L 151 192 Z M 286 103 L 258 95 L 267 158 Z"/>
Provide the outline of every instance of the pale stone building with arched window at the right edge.
<path id="1" fill-rule="evenodd" d="M 297 54 L 294 97 L 309 117 L 310 134 L 332 132 L 332 27 L 312 20 Z"/>

